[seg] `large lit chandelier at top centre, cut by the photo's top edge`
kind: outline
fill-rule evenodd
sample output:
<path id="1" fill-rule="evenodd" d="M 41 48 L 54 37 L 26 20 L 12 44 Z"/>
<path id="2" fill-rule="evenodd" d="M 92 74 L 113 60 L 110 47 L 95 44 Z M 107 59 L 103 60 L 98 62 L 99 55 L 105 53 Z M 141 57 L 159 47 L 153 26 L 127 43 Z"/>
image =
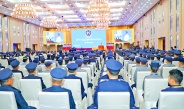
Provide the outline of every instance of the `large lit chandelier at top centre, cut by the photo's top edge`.
<path id="1" fill-rule="evenodd" d="M 87 15 L 109 16 L 111 14 L 109 4 L 106 0 L 92 0 L 89 3 Z"/>

